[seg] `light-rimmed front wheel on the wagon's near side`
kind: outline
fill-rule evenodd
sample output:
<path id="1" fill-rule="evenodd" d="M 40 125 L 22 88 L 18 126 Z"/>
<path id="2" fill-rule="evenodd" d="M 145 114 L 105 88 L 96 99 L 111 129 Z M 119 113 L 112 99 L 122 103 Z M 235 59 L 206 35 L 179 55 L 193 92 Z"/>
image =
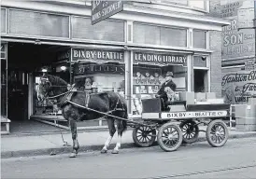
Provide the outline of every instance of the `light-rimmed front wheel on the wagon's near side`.
<path id="1" fill-rule="evenodd" d="M 157 142 L 165 152 L 175 151 L 182 143 L 182 131 L 177 124 L 168 122 L 158 131 Z"/>

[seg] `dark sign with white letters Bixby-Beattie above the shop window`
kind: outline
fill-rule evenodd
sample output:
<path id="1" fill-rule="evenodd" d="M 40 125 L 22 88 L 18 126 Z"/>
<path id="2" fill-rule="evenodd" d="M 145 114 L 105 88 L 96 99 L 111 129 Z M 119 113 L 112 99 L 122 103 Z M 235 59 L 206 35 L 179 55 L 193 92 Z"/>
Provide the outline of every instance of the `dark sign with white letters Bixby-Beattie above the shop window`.
<path id="1" fill-rule="evenodd" d="M 122 51 L 72 49 L 72 62 L 124 62 Z"/>

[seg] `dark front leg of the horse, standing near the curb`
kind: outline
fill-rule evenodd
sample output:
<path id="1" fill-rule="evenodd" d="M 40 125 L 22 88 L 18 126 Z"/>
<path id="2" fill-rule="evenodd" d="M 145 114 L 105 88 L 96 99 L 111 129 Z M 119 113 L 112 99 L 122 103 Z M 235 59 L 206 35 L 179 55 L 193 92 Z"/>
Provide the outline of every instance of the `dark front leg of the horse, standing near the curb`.
<path id="1" fill-rule="evenodd" d="M 73 118 L 70 118 L 69 122 L 70 122 L 70 128 L 71 128 L 72 140 L 73 140 L 73 151 L 69 157 L 76 158 L 78 155 L 78 149 L 79 149 L 77 121 Z"/>

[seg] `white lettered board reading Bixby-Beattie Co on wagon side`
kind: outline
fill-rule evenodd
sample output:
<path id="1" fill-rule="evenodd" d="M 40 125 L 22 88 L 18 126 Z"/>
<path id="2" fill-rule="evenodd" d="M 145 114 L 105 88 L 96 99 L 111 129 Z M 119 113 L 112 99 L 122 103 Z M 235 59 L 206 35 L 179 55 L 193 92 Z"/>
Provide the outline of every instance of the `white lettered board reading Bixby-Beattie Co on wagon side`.
<path id="1" fill-rule="evenodd" d="M 199 118 L 199 117 L 226 117 L 227 111 L 195 111 L 195 112 L 175 112 L 162 113 L 161 118 Z"/>

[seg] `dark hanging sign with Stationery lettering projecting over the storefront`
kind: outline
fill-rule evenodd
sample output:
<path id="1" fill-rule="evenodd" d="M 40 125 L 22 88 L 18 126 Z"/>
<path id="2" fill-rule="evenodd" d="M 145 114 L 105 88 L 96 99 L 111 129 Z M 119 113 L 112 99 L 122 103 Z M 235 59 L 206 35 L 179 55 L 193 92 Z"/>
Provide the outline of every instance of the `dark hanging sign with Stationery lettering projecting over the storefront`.
<path id="1" fill-rule="evenodd" d="M 123 10 L 123 1 L 92 1 L 92 25 Z"/>

